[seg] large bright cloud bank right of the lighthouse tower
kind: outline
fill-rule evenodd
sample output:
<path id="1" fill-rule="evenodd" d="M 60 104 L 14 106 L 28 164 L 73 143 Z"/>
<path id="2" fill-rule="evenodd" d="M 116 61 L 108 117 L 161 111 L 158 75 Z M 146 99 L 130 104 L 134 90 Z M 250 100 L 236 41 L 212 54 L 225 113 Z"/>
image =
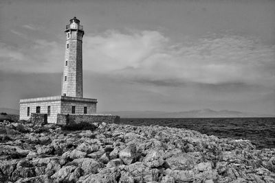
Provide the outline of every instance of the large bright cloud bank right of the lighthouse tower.
<path id="1" fill-rule="evenodd" d="M 90 71 L 137 82 L 275 84 L 275 46 L 245 36 L 210 35 L 179 44 L 156 31 L 111 31 L 86 37 L 84 51 Z"/>

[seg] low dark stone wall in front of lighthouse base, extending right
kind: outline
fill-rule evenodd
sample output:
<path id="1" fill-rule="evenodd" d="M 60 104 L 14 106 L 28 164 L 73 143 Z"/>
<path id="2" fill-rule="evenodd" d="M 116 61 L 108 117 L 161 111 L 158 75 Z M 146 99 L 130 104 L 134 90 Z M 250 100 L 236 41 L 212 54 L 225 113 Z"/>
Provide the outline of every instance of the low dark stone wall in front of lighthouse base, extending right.
<path id="1" fill-rule="evenodd" d="M 120 117 L 111 114 L 92 114 L 92 115 L 66 115 L 57 114 L 57 124 L 67 125 L 69 123 L 119 123 Z"/>

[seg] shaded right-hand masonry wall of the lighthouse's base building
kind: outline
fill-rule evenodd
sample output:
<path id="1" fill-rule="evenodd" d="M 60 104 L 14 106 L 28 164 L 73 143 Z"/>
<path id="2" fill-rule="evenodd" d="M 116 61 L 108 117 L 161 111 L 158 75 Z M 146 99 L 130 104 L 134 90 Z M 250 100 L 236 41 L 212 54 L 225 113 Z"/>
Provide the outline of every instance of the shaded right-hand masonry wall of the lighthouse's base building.
<path id="1" fill-rule="evenodd" d="M 87 114 L 96 113 L 96 103 L 78 102 L 78 101 L 61 101 L 60 114 L 72 114 L 72 106 L 76 106 L 75 114 L 84 114 L 84 107 L 87 107 Z"/>

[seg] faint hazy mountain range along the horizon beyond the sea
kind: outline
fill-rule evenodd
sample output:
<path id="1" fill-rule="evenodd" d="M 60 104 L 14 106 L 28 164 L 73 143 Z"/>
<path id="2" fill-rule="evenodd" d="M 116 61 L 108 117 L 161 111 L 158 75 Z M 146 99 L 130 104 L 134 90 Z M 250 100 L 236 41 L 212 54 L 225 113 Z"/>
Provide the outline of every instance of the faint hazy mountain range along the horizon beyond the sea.
<path id="1" fill-rule="evenodd" d="M 183 112 L 162 111 L 113 111 L 102 112 L 118 115 L 122 118 L 228 118 L 228 117 L 275 117 L 272 114 L 259 114 L 254 112 L 239 112 L 234 110 L 189 110 Z"/>

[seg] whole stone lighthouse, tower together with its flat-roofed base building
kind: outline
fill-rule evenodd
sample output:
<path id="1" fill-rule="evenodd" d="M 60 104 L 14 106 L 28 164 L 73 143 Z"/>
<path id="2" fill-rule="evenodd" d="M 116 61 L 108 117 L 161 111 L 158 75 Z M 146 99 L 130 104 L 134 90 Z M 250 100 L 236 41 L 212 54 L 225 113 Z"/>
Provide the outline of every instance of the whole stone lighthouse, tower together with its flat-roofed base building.
<path id="1" fill-rule="evenodd" d="M 94 114 L 97 99 L 83 98 L 82 42 L 84 30 L 74 17 L 66 25 L 65 61 L 62 92 L 59 96 L 20 100 L 20 119 L 32 113 L 47 114 L 48 123 L 56 123 L 57 114 Z"/>

